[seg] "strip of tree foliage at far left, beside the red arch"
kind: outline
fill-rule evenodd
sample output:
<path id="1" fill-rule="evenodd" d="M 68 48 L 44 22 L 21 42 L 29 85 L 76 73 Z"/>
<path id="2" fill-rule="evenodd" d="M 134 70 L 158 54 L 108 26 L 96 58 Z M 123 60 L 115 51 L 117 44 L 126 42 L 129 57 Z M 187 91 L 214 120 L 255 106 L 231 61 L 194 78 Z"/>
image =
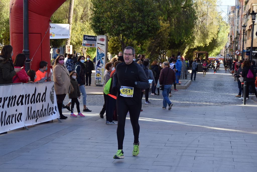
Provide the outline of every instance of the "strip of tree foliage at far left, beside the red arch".
<path id="1" fill-rule="evenodd" d="M 10 27 L 9 27 L 9 3 L 10 0 L 0 1 L 0 44 L 10 44 Z"/>

